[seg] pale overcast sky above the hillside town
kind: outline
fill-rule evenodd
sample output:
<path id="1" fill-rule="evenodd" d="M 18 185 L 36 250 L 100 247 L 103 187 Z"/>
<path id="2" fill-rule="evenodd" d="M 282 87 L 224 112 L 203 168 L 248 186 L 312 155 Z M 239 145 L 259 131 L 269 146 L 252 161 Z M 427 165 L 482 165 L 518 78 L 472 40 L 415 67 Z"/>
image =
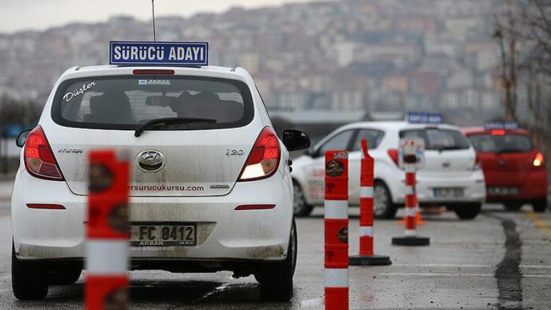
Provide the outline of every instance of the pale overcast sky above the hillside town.
<path id="1" fill-rule="evenodd" d="M 222 12 L 312 0 L 155 0 L 156 16 L 187 17 L 197 12 Z M 151 18 L 151 0 L 0 0 L 0 32 L 43 30 L 73 21 L 105 21 L 114 15 Z"/>

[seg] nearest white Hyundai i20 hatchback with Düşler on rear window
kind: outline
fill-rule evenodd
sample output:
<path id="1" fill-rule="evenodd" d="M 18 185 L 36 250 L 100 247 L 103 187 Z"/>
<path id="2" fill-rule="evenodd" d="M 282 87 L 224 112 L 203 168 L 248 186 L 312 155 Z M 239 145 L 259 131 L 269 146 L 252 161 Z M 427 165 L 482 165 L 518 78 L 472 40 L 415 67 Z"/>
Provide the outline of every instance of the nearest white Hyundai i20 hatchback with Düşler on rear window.
<path id="1" fill-rule="evenodd" d="M 310 142 L 295 130 L 282 140 L 242 68 L 67 70 L 38 126 L 18 138 L 25 144 L 12 196 L 14 295 L 45 298 L 48 285 L 79 278 L 87 153 L 111 148 L 132 154 L 132 231 L 192 230 L 178 246 L 131 234 L 132 270 L 253 274 L 263 299 L 289 300 L 297 235 L 288 151 Z"/>

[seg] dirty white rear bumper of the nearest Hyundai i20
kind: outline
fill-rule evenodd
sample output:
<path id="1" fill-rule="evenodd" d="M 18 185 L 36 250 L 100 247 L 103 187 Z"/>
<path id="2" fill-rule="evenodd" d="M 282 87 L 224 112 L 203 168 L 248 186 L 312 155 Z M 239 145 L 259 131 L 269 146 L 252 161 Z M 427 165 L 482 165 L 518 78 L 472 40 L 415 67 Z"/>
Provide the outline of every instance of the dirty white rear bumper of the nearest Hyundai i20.
<path id="1" fill-rule="evenodd" d="M 266 180 L 238 183 L 218 197 L 153 198 L 130 201 L 133 223 L 197 223 L 198 245 L 130 247 L 132 260 L 282 260 L 293 216 L 291 183 L 279 172 Z M 27 203 L 56 203 L 65 210 L 28 209 Z M 269 210 L 236 211 L 243 204 L 275 204 Z M 87 197 L 65 182 L 17 175 L 12 198 L 16 252 L 26 260 L 81 260 L 85 256 Z"/>

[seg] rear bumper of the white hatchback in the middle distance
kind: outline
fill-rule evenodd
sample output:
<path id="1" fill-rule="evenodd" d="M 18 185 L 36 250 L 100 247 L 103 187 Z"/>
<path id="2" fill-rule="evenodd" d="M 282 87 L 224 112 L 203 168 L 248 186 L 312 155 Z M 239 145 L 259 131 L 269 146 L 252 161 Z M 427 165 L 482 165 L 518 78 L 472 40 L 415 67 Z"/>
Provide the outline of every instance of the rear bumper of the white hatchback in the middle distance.
<path id="1" fill-rule="evenodd" d="M 403 174 L 402 174 L 403 176 Z M 404 204 L 406 196 L 405 178 L 393 190 L 394 203 Z M 458 198 L 440 198 L 435 196 L 435 188 L 461 188 L 464 196 Z M 486 200 L 486 185 L 484 174 L 474 171 L 462 176 L 423 176 L 417 175 L 415 187 L 417 199 L 421 205 L 433 203 L 484 203 Z"/>

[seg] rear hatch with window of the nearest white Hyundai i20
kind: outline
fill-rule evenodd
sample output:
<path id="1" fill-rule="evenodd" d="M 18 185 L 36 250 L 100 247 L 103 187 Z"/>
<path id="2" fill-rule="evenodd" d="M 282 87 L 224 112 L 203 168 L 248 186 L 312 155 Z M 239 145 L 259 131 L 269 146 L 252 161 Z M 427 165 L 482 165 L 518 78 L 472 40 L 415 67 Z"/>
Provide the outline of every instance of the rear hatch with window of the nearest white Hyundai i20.
<path id="1" fill-rule="evenodd" d="M 249 87 L 193 76 L 112 76 L 62 83 L 45 128 L 75 194 L 87 194 L 87 152 L 125 149 L 131 196 L 228 194 L 262 130 Z M 136 129 L 148 122 L 138 136 Z M 250 124 L 250 125 L 249 125 Z M 50 134 L 56 132 L 56 134 Z M 59 133 L 58 133 L 59 132 Z"/>

